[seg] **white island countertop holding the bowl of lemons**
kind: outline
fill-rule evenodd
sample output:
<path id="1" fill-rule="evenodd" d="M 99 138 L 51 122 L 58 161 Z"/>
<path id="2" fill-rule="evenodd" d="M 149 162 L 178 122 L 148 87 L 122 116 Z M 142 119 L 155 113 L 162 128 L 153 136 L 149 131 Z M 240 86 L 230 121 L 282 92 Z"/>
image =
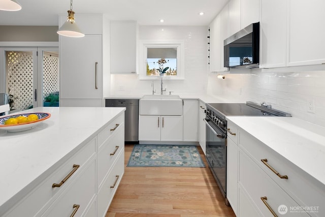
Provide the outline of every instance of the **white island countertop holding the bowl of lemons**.
<path id="1" fill-rule="evenodd" d="M 124 110 L 38 107 L 18 112 L 47 112 L 51 117 L 28 131 L 0 130 L 0 210 L 11 207 Z"/>

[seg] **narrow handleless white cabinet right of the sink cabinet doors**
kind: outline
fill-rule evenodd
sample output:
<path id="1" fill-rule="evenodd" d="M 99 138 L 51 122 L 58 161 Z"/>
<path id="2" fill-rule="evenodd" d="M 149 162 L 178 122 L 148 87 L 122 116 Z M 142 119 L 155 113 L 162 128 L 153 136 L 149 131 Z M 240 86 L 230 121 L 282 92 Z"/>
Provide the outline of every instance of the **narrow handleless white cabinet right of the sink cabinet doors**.
<path id="1" fill-rule="evenodd" d="M 198 100 L 183 100 L 183 141 L 198 141 Z"/>

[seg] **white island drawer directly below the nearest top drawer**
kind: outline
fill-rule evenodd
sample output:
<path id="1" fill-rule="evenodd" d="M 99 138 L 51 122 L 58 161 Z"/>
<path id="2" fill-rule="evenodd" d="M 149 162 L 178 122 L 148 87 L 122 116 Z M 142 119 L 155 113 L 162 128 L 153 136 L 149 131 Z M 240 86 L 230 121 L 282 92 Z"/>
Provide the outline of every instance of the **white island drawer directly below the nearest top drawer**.
<path id="1" fill-rule="evenodd" d="M 85 166 L 81 174 L 76 177 L 66 191 L 64 191 L 54 203 L 46 210 L 42 216 L 57 217 L 70 216 L 79 205 L 75 217 L 83 216 L 88 207 L 92 205 L 92 199 L 96 196 L 95 180 L 96 180 L 96 161 L 93 158 L 89 164 Z M 90 207 L 91 208 L 91 207 Z"/>

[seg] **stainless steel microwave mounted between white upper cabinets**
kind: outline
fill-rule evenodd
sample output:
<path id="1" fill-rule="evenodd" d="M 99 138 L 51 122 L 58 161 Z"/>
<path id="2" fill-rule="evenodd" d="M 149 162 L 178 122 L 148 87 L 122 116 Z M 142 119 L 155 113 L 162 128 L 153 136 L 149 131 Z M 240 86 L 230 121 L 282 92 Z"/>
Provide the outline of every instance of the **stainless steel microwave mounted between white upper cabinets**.
<path id="1" fill-rule="evenodd" d="M 259 22 L 223 41 L 224 67 L 255 68 L 259 64 Z"/>

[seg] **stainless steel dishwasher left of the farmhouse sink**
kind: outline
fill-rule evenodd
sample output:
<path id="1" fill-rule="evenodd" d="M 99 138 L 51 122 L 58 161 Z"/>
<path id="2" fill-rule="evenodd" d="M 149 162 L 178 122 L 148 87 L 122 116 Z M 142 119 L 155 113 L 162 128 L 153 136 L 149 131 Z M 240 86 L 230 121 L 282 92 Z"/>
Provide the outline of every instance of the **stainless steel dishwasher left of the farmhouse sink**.
<path id="1" fill-rule="evenodd" d="M 139 100 L 138 99 L 106 99 L 105 107 L 125 107 L 124 141 L 139 143 Z"/>

